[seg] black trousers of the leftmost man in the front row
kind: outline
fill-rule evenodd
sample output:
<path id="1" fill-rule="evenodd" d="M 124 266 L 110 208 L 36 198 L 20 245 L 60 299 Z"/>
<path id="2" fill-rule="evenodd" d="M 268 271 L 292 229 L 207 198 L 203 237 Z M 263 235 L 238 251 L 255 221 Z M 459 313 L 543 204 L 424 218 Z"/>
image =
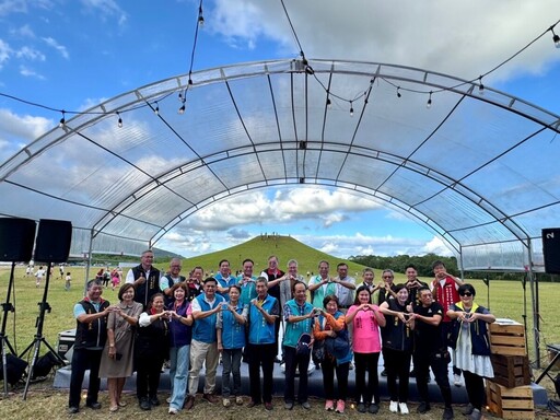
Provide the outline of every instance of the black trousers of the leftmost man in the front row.
<path id="1" fill-rule="evenodd" d="M 74 349 L 72 354 L 72 373 L 70 375 L 70 396 L 68 407 L 80 407 L 82 383 L 85 371 L 90 370 L 88 397 L 85 404 L 97 402 L 100 394 L 100 364 L 103 350 Z"/>

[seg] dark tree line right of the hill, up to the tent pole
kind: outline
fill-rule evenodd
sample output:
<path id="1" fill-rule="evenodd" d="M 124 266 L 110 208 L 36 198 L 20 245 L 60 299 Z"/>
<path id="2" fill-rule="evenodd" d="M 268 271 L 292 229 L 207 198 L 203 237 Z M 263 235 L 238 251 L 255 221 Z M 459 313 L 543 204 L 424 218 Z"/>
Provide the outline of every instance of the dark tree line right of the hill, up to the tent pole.
<path id="1" fill-rule="evenodd" d="M 398 255 L 395 257 L 381 257 L 378 255 L 358 255 L 348 258 L 351 261 L 361 264 L 366 267 L 378 269 L 392 269 L 397 272 L 405 272 L 405 268 L 412 264 L 418 270 L 419 277 L 433 277 L 432 264 L 436 260 L 443 261 L 447 272 L 453 276 L 459 276 L 457 268 L 457 258 L 443 257 L 435 254 L 418 255 Z"/>

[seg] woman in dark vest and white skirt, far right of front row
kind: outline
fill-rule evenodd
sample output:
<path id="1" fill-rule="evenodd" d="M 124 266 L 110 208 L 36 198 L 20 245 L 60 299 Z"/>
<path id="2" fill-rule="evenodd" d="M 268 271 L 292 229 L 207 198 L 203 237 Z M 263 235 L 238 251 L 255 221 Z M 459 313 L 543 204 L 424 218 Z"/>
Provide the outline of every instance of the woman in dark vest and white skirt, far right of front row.
<path id="1" fill-rule="evenodd" d="M 453 340 L 455 341 L 454 362 L 463 371 L 469 405 L 465 415 L 469 420 L 482 418 L 485 400 L 485 377 L 493 377 L 490 361 L 490 338 L 488 324 L 495 322 L 489 310 L 475 303 L 476 291 L 471 284 L 459 287 L 460 302 L 447 311 L 447 316 L 455 319 Z"/>

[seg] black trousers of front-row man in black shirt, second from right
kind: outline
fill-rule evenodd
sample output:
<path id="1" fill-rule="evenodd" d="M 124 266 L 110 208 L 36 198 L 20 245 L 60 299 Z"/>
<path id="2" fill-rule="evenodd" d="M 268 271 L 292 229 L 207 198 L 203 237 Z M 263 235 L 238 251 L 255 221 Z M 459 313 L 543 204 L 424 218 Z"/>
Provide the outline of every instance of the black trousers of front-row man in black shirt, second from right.
<path id="1" fill-rule="evenodd" d="M 417 342 L 417 346 L 421 343 Z M 415 372 L 416 372 L 416 386 L 420 401 L 430 402 L 428 392 L 428 377 L 430 375 L 430 368 L 432 369 L 433 375 L 435 376 L 435 383 L 440 387 L 442 393 L 443 402 L 445 407 L 451 407 L 451 386 L 450 378 L 447 377 L 447 364 L 450 359 L 446 359 L 442 353 L 438 354 L 425 354 L 421 352 L 415 352 Z"/>

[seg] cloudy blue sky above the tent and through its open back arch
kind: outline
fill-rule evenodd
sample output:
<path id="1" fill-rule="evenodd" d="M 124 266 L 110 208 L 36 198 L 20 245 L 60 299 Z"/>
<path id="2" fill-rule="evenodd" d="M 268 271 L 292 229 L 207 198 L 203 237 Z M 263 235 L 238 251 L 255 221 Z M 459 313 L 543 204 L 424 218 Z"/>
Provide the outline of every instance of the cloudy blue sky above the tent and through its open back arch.
<path id="1" fill-rule="evenodd" d="M 0 0 L 0 93 L 55 109 L 83 110 L 186 73 L 198 4 Z M 465 79 L 486 73 L 560 19 L 558 0 L 284 4 L 310 58 L 412 66 Z M 299 56 L 279 0 L 205 1 L 203 16 L 194 71 Z M 545 35 L 485 84 L 560 114 L 560 49 L 551 37 Z M 59 119 L 57 112 L 0 97 L 0 163 Z M 340 257 L 450 254 L 415 221 L 341 190 L 273 188 L 252 192 L 250 199 L 258 212 L 224 219 L 218 208 L 205 208 L 187 230 L 172 232 L 159 246 L 190 256 L 278 232 Z M 285 200 L 299 208 L 298 218 L 282 218 L 278 203 Z"/>

